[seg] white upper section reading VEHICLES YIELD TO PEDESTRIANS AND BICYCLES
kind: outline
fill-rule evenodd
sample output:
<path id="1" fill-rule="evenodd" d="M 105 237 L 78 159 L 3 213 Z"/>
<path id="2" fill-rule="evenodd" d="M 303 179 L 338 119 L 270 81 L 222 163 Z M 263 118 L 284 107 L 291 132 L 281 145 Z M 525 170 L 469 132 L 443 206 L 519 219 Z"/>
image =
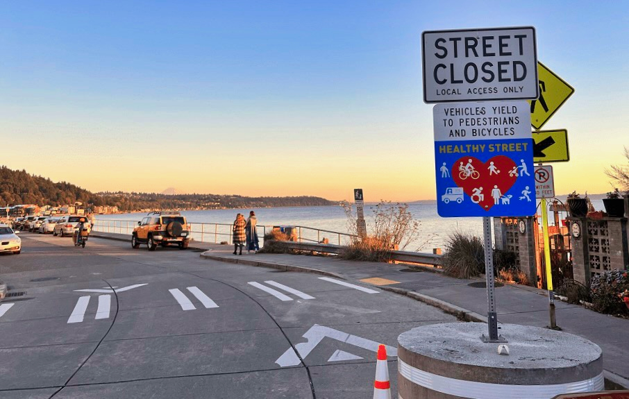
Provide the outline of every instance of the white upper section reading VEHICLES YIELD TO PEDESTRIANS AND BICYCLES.
<path id="1" fill-rule="evenodd" d="M 433 107 L 435 142 L 531 139 L 526 101 L 437 104 Z"/>

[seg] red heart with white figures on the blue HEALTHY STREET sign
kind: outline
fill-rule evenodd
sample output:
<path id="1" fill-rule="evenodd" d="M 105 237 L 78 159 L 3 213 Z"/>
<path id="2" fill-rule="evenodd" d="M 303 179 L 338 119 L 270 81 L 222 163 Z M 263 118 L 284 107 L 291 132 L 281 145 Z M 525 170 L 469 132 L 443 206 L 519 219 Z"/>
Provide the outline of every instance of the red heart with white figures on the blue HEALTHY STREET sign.
<path id="1" fill-rule="evenodd" d="M 496 155 L 487 162 L 463 157 L 452 165 L 452 177 L 473 203 L 490 210 L 494 205 L 509 203 L 505 194 L 518 178 L 518 167 L 505 155 Z"/>

